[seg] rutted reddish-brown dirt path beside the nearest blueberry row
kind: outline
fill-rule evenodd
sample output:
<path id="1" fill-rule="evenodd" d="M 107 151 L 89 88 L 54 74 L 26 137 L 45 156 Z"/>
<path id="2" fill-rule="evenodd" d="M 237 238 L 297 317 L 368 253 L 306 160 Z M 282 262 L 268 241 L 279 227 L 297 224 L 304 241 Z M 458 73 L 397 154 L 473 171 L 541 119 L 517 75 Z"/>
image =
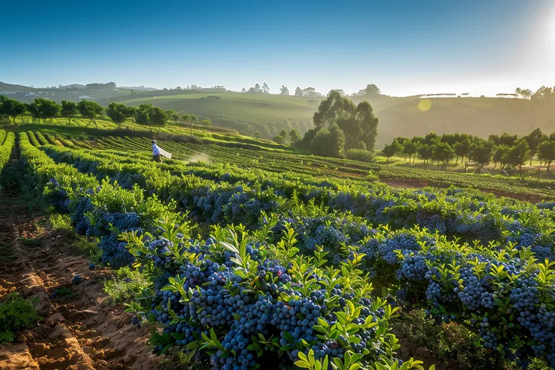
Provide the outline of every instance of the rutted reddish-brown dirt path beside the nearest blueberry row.
<path id="1" fill-rule="evenodd" d="M 0 210 L 0 298 L 14 290 L 35 298 L 44 317 L 16 342 L 0 346 L 0 369 L 156 369 L 148 328 L 131 325 L 122 307 L 103 304 L 102 281 L 110 270 L 89 271 L 71 243 L 55 231 L 37 229 L 37 217 L 17 194 L 0 194 Z M 76 274 L 85 280 L 72 285 Z M 71 294 L 51 299 L 61 287 Z"/>

